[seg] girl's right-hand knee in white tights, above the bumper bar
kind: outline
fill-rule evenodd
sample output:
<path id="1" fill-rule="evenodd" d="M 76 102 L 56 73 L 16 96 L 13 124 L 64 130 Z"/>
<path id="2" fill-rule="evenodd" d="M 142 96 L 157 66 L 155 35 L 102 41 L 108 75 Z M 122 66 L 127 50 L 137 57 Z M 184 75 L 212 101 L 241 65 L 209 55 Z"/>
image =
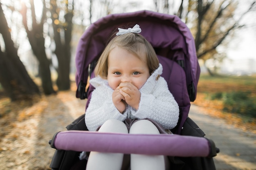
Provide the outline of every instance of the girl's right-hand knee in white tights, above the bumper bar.
<path id="1" fill-rule="evenodd" d="M 132 124 L 130 134 L 159 134 L 159 130 L 151 121 L 141 119 Z"/>

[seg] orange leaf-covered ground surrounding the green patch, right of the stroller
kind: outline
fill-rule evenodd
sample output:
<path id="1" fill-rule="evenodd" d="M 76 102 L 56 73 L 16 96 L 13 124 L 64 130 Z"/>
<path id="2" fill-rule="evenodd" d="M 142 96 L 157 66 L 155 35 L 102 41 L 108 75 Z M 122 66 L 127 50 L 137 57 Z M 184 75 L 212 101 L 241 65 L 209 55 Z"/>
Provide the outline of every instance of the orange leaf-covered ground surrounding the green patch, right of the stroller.
<path id="1" fill-rule="evenodd" d="M 254 77 L 222 77 L 202 78 L 198 82 L 198 93 L 193 104 L 202 106 L 203 113 L 225 119 L 228 124 L 233 124 L 243 130 L 256 134 L 256 119 L 241 117 L 238 114 L 223 111 L 223 103 L 217 99 L 209 99 L 209 95 L 217 92 L 250 91 L 256 95 L 256 79 Z"/>

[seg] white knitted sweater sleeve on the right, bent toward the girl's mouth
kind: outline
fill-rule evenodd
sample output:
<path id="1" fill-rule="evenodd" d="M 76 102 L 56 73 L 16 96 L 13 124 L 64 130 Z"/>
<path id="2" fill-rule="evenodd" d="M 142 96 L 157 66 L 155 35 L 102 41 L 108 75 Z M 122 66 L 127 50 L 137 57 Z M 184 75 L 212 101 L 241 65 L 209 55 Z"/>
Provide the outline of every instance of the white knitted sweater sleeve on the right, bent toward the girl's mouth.
<path id="1" fill-rule="evenodd" d="M 132 116 L 153 119 L 165 129 L 172 129 L 177 125 L 179 106 L 163 77 L 160 77 L 152 93 L 141 93 L 139 108 L 132 111 Z"/>

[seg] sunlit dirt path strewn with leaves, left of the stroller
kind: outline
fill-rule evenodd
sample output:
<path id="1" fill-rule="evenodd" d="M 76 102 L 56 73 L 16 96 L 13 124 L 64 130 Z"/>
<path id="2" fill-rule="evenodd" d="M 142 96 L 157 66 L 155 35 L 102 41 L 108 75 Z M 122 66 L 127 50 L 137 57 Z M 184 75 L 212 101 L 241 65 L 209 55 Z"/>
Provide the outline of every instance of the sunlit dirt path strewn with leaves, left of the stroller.
<path id="1" fill-rule="evenodd" d="M 1 117 L 0 170 L 50 169 L 55 150 L 49 146 L 49 139 L 55 132 L 66 130 L 65 126 L 85 110 L 86 101 L 74 94 L 68 91 L 43 97 L 32 107 L 12 108 Z"/>

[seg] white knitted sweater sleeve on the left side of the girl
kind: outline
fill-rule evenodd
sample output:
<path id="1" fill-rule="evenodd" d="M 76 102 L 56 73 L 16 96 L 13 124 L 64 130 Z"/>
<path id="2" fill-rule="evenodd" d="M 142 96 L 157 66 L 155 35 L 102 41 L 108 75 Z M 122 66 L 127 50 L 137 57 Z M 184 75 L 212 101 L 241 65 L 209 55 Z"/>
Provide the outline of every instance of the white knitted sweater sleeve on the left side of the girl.
<path id="1" fill-rule="evenodd" d="M 85 111 L 85 124 L 95 131 L 108 119 L 124 121 L 127 113 L 121 114 L 112 102 L 112 89 L 99 86 L 92 92 L 88 108 Z"/>

